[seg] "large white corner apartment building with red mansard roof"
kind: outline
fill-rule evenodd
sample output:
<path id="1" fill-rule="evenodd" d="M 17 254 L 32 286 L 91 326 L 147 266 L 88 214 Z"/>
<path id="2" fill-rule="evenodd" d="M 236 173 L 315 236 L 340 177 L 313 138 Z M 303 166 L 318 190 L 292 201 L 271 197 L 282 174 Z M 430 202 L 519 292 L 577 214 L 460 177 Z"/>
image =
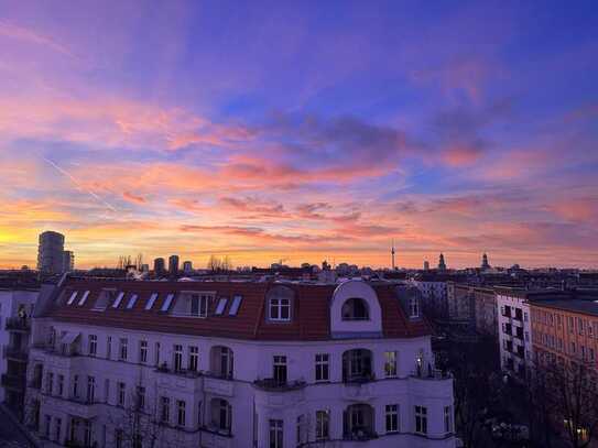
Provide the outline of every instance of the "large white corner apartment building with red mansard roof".
<path id="1" fill-rule="evenodd" d="M 67 278 L 33 319 L 44 446 L 454 447 L 412 288 Z"/>

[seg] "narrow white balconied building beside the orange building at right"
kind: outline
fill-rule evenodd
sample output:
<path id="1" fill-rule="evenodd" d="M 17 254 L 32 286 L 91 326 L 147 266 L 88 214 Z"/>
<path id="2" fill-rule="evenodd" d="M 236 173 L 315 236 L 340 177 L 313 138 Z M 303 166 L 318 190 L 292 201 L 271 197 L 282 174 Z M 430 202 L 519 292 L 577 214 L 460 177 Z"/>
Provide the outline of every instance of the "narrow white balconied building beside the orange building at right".
<path id="1" fill-rule="evenodd" d="M 526 292 L 496 288 L 501 369 L 524 378 L 533 362 L 532 321 Z"/>

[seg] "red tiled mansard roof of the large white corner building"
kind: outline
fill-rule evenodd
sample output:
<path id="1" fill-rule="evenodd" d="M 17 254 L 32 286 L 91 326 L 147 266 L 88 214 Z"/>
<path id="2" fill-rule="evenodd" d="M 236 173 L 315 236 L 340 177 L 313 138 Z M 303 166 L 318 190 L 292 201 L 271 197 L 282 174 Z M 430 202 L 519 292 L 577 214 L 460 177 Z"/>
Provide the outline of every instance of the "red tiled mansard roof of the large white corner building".
<path id="1" fill-rule="evenodd" d="M 218 336 L 233 339 L 259 340 L 326 340 L 330 339 L 329 304 L 336 285 L 284 284 L 295 292 L 293 319 L 290 323 L 271 323 L 265 318 L 265 294 L 278 283 L 250 282 L 139 282 L 69 278 L 62 287 L 62 301 L 55 304 L 50 316 L 59 321 L 117 327 L 140 331 L 162 331 L 182 335 Z M 430 335 L 425 319 L 409 321 L 390 285 L 372 285 L 382 308 L 382 329 L 388 338 L 410 338 Z M 108 306 L 104 312 L 93 310 L 104 288 L 124 292 L 118 308 Z M 78 291 L 76 301 L 66 305 L 72 292 Z M 78 301 L 85 291 L 89 296 L 83 306 Z M 225 313 L 214 315 L 218 301 L 210 304 L 208 317 L 168 316 L 160 308 L 168 293 L 183 291 L 216 292 L 217 297 L 228 297 Z M 127 309 L 130 294 L 139 295 L 132 309 Z M 145 304 L 152 293 L 159 298 L 151 310 Z M 229 316 L 231 299 L 241 295 L 242 303 L 236 316 Z M 176 301 L 176 298 L 175 298 Z M 172 306 L 171 306 L 172 309 Z"/>

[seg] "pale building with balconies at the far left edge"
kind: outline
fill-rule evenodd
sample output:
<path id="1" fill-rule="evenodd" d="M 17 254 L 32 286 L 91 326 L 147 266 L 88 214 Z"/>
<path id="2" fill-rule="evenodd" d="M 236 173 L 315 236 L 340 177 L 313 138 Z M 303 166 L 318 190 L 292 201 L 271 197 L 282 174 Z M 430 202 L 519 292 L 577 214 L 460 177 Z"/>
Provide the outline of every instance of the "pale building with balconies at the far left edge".
<path id="1" fill-rule="evenodd" d="M 0 288 L 0 403 L 18 416 L 23 408 L 31 315 L 39 291 Z"/>

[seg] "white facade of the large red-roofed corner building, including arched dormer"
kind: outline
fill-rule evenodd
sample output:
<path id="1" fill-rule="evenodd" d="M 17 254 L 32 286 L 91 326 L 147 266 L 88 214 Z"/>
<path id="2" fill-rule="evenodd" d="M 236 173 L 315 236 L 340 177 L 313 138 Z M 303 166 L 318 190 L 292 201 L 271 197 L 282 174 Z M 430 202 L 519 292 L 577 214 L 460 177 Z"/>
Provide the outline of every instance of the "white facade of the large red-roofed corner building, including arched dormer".
<path id="1" fill-rule="evenodd" d="M 356 297 L 369 318 L 341 317 Z M 453 380 L 434 370 L 430 336 L 383 337 L 379 301 L 360 281 L 335 292 L 330 334 L 243 340 L 40 318 L 29 423 L 50 442 L 98 447 L 119 446 L 119 434 L 131 446 L 137 415 L 144 447 L 455 446 Z"/>

